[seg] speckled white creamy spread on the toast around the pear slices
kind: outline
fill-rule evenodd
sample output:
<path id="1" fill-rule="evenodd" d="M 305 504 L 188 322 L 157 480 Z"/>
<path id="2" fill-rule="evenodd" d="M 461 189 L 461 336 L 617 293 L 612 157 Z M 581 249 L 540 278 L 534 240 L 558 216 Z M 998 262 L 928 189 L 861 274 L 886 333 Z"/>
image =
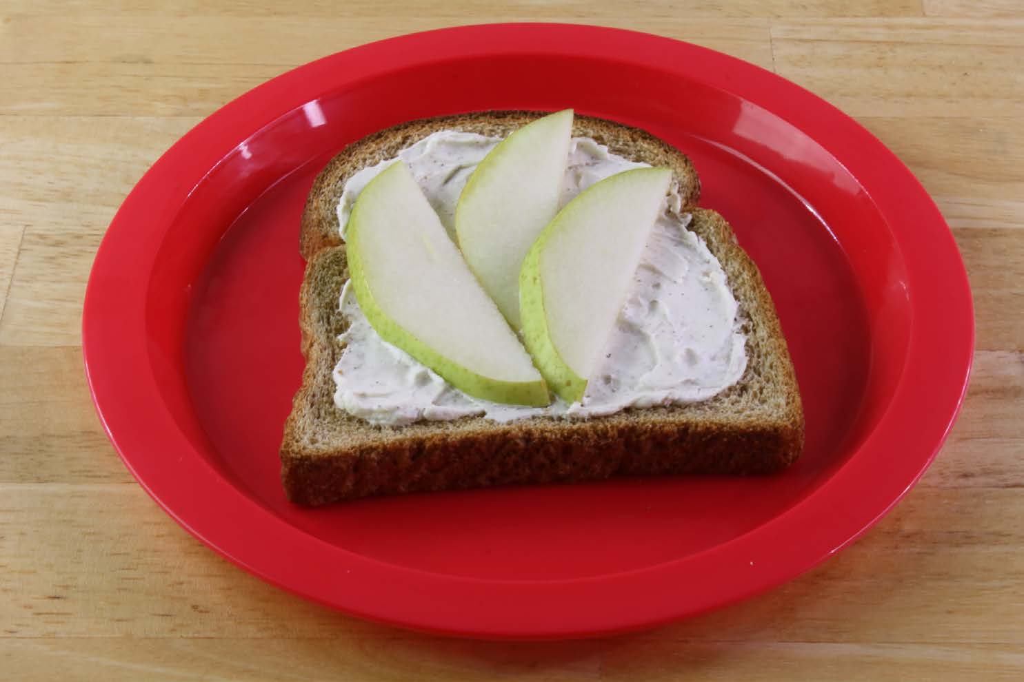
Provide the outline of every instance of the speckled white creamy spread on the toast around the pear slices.
<path id="1" fill-rule="evenodd" d="M 399 152 L 453 240 L 462 189 L 500 141 L 440 131 Z M 362 169 L 345 183 L 338 203 L 342 236 L 359 192 L 394 161 Z M 646 166 L 610 153 L 590 138 L 573 138 L 561 204 L 604 178 Z M 528 407 L 467 396 L 383 340 L 346 282 L 340 306 L 349 326 L 341 335 L 346 346 L 334 370 L 336 405 L 378 424 L 471 415 L 505 422 L 540 415 L 600 416 L 630 407 L 699 402 L 721 393 L 746 368 L 746 339 L 725 272 L 705 242 L 687 229 L 690 216 L 680 204 L 675 191 L 666 197 L 599 369 L 581 401 L 556 399 L 547 407 Z"/>

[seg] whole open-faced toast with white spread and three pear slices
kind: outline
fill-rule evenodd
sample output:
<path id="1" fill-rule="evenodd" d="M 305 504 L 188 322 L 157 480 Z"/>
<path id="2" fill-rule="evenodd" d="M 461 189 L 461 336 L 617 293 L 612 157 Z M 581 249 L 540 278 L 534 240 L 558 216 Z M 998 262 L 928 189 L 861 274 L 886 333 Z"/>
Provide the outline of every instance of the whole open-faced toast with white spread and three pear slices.
<path id="1" fill-rule="evenodd" d="M 771 298 L 679 150 L 571 110 L 366 137 L 302 218 L 289 499 L 769 472 L 804 417 Z"/>

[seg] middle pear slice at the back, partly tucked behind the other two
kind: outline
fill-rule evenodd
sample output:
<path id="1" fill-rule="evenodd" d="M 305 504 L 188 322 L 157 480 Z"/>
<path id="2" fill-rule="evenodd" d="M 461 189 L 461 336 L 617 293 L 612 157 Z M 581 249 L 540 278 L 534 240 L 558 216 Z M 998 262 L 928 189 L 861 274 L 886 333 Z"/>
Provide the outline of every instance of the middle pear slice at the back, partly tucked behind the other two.
<path id="1" fill-rule="evenodd" d="M 459 248 L 515 329 L 522 259 L 558 212 L 571 133 L 572 109 L 519 128 L 484 156 L 456 206 Z"/>

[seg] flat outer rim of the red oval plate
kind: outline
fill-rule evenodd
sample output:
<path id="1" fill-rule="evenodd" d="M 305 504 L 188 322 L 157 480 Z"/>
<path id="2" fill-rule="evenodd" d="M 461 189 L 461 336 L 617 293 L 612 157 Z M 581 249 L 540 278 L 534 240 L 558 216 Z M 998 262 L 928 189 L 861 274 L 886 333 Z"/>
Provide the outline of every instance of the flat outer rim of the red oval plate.
<path id="1" fill-rule="evenodd" d="M 742 93 L 744 99 L 764 106 L 808 134 L 841 163 L 853 160 L 848 168 L 858 180 L 863 182 L 864 177 L 876 180 L 867 183 L 873 190 L 871 199 L 890 222 L 904 259 L 906 246 L 927 240 L 928 256 L 933 260 L 920 263 L 912 253 L 906 260 L 914 300 L 904 373 L 895 387 L 889 408 L 849 461 L 783 513 L 697 554 L 628 572 L 543 581 L 434 574 L 355 554 L 278 517 L 224 480 L 195 448 L 189 453 L 194 455 L 191 458 L 179 453 L 180 468 L 173 475 L 155 474 L 159 466 L 152 457 L 139 454 L 144 452 L 140 449 L 150 434 L 168 435 L 165 452 L 178 452 L 176 448 L 181 447 L 188 450 L 190 444 L 183 435 L 175 433 L 176 423 L 166 409 L 164 413 L 151 410 L 145 415 L 146 428 L 140 429 L 137 410 L 126 410 L 118 402 L 125 402 L 124 397 L 131 396 L 136 406 L 163 407 L 155 382 L 133 383 L 125 378 L 130 372 L 122 373 L 126 366 L 147 366 L 150 356 L 144 344 L 133 347 L 121 333 L 126 317 L 129 321 L 144 322 L 145 295 L 141 289 L 146 287 L 126 290 L 125 284 L 131 281 L 132 272 L 144 276 L 152 271 L 164 236 L 163 232 L 151 230 L 140 237 L 137 230 L 131 232 L 131 226 L 142 216 L 152 220 L 155 196 L 166 204 L 174 204 L 183 201 L 190 192 L 185 183 L 160 189 L 161 179 L 179 177 L 183 171 L 211 171 L 233 148 L 224 140 L 241 135 L 225 137 L 220 131 L 237 129 L 245 135 L 254 133 L 272 123 L 275 117 L 309 101 L 308 96 L 299 95 L 314 83 L 324 91 L 327 84 L 338 89 L 354 83 L 356 78 L 385 76 L 401 65 L 421 63 L 416 54 L 470 58 L 495 54 L 498 50 L 502 54 L 521 55 L 536 55 L 544 50 L 593 58 L 608 58 L 611 52 L 613 58 L 631 63 L 685 73 L 692 80 Z M 665 55 L 670 53 L 676 57 L 676 64 L 685 65 L 666 65 Z M 367 66 L 368 61 L 373 65 Z M 352 64 L 359 66 L 356 77 L 349 76 L 349 69 L 342 67 Z M 694 64 L 703 69 L 700 78 L 693 78 L 690 73 Z M 290 105 L 298 99 L 303 101 Z M 810 112 L 816 118 L 810 118 Z M 197 154 L 197 149 L 204 151 Z M 843 153 L 837 153 L 837 149 Z M 184 158 L 185 152 L 193 154 L 191 157 Z M 863 166 L 868 154 L 873 164 L 886 169 L 885 182 L 881 182 L 878 171 L 853 170 Z M 196 182 L 202 177 L 195 175 Z M 914 227 L 897 234 L 895 225 L 903 224 Z M 128 233 L 132 234 L 132 243 L 126 243 L 124 236 Z M 119 272 L 117 268 L 111 271 L 126 258 L 134 259 L 132 272 Z M 913 281 L 934 283 L 935 275 L 940 273 L 945 277 L 942 285 L 930 291 L 923 289 L 921 283 L 912 284 Z M 124 307 L 117 315 L 105 308 L 109 297 Z M 939 319 L 943 316 L 945 319 Z M 929 334 L 936 329 L 948 334 L 949 343 L 941 352 L 927 346 Z M 118 210 L 90 272 L 82 330 L 89 391 L 119 456 L 169 515 L 222 556 L 290 592 L 369 620 L 454 635 L 530 639 L 596 636 L 655 626 L 739 601 L 817 565 L 885 515 L 927 469 L 958 414 L 974 352 L 970 284 L 952 232 L 912 173 L 860 124 L 782 77 L 709 48 L 623 29 L 532 22 L 446 28 L 368 43 L 298 66 L 219 108 L 175 142 L 143 175 Z M 118 367 L 112 372 L 110 351 L 114 348 L 119 349 Z M 932 383 L 941 383 L 941 390 L 934 391 L 932 385 L 933 395 L 922 396 L 923 389 L 914 378 L 923 370 L 932 369 L 930 363 L 938 360 L 946 363 L 945 369 Z M 142 376 L 153 378 L 148 373 Z M 895 417 L 890 413 L 894 406 L 898 408 L 908 400 L 923 398 L 935 404 L 933 412 L 940 416 L 927 424 L 916 424 L 920 428 L 913 433 L 892 428 Z M 132 412 L 135 414 L 131 415 Z M 129 420 L 129 416 L 133 418 Z M 882 482 L 884 485 L 879 485 L 877 470 L 868 466 L 870 459 L 861 453 L 876 453 L 878 459 L 879 453 L 895 448 L 914 455 L 899 458 Z M 887 463 L 891 465 L 892 461 Z M 851 493 L 851 484 L 855 482 L 862 485 L 853 486 Z M 867 483 L 872 486 L 865 490 L 863 484 Z M 185 484 L 187 488 L 182 489 Z M 226 520 L 209 517 L 207 496 L 215 496 L 217 511 Z M 850 506 L 838 507 L 847 512 L 839 519 L 829 518 L 825 525 L 815 518 L 814 512 L 822 504 L 836 507 L 844 503 Z M 797 546 L 787 543 L 793 529 L 809 539 Z M 273 552 L 262 546 L 268 537 L 279 543 Z M 784 560 L 773 556 L 779 547 L 787 552 Z M 283 552 L 284 548 L 289 551 Z M 274 553 L 287 554 L 291 560 L 274 557 Z M 301 564 L 296 571 L 296 557 L 318 557 L 321 563 Z M 324 561 L 326 557 L 331 560 Z M 342 575 L 344 580 L 339 580 Z M 687 579 L 701 580 L 700 595 L 679 594 L 680 581 Z M 385 587 L 388 596 L 379 598 L 377 592 Z M 637 598 L 643 595 L 648 599 Z M 657 598 L 650 598 L 653 595 Z M 477 607 L 459 607 L 466 604 Z M 480 608 L 480 604 L 487 607 Z"/>

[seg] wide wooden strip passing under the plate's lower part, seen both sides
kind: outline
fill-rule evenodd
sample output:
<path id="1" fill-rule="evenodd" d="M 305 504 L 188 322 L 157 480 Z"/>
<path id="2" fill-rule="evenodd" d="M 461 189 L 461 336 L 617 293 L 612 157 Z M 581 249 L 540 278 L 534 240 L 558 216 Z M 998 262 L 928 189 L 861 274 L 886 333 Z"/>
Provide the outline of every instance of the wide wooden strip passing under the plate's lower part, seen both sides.
<path id="1" fill-rule="evenodd" d="M 417 639 L 240 572 L 137 486 L 19 484 L 0 493 L 8 636 Z M 1024 625 L 1022 529 L 1020 489 L 920 488 L 803 579 L 620 639 L 1013 645 L 1008 625 Z"/>

